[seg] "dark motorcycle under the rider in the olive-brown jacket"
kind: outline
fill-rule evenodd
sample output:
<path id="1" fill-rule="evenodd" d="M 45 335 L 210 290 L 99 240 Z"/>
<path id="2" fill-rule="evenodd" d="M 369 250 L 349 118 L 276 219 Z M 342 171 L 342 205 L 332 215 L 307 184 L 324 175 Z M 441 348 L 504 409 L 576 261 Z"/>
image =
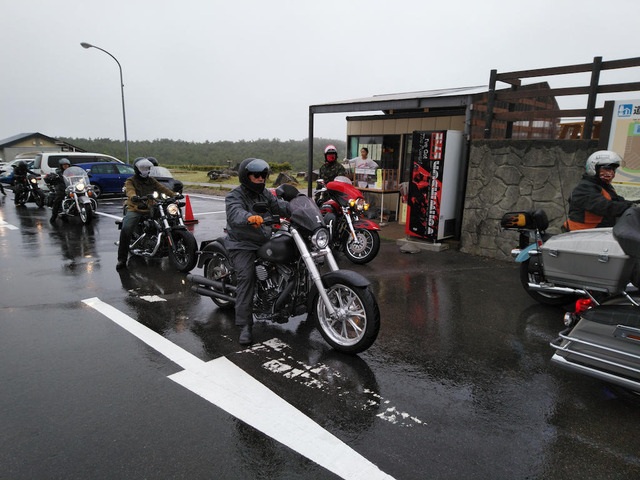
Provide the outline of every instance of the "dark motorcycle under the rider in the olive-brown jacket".
<path id="1" fill-rule="evenodd" d="M 149 216 L 141 220 L 131 236 L 129 253 L 143 258 L 169 257 L 171 263 L 181 272 L 189 272 L 195 267 L 198 244 L 187 230 L 180 207 L 184 207 L 182 194 L 170 197 L 153 192 L 143 197 L 133 197 L 133 201 L 149 206 Z M 117 220 L 118 229 L 122 221 Z"/>

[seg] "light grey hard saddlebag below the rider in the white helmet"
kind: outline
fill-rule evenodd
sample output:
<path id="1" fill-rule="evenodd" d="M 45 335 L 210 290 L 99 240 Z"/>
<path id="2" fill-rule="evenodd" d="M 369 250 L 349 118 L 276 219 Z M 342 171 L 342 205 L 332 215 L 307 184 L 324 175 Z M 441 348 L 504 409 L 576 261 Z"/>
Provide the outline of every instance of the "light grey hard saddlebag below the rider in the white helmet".
<path id="1" fill-rule="evenodd" d="M 549 282 L 608 293 L 626 288 L 635 264 L 613 237 L 611 228 L 556 235 L 541 250 Z"/>

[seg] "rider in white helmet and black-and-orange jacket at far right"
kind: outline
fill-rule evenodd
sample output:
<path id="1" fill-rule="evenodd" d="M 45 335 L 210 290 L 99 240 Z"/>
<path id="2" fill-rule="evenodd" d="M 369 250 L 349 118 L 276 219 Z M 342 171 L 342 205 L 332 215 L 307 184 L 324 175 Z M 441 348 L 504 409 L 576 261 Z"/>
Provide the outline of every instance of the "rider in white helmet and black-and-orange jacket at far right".
<path id="1" fill-rule="evenodd" d="M 622 158 L 616 152 L 600 150 L 587 158 L 585 174 L 569 197 L 569 218 L 563 231 L 613 227 L 616 219 L 633 205 L 611 185 Z"/>

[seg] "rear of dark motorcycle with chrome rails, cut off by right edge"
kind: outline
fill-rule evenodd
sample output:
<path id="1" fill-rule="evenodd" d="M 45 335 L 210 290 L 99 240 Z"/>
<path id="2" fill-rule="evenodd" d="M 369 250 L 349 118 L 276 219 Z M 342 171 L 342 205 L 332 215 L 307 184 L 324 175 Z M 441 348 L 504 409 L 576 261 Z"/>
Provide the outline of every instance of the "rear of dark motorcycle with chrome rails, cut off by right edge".
<path id="1" fill-rule="evenodd" d="M 629 208 L 611 235 L 628 260 L 640 259 L 640 208 Z M 630 267 L 633 268 L 633 267 Z M 619 282 L 620 287 L 623 282 Z M 636 283 L 637 282 L 632 282 Z M 551 361 L 571 371 L 598 378 L 622 396 L 640 400 L 640 294 L 631 288 L 598 302 L 580 299 L 566 313 L 567 327 L 551 342 Z"/>

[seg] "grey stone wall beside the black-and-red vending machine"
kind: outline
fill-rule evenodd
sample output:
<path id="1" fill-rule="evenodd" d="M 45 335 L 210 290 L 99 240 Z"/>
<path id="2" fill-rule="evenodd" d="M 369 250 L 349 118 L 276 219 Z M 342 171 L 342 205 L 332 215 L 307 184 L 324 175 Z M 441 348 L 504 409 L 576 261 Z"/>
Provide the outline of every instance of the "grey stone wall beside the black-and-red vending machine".
<path id="1" fill-rule="evenodd" d="M 510 211 L 541 208 L 549 217 L 549 233 L 559 233 L 566 199 L 596 150 L 597 140 L 471 142 L 460 250 L 510 259 L 518 234 L 500 228 Z"/>

